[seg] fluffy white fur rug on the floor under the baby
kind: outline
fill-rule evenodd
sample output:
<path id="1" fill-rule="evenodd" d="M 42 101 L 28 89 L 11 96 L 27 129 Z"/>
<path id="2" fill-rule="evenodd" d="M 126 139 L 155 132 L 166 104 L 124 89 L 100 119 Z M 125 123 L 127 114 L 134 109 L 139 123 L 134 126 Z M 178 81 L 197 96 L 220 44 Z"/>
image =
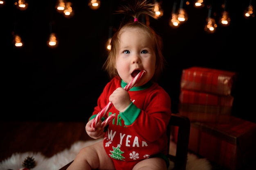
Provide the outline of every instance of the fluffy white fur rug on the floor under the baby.
<path id="1" fill-rule="evenodd" d="M 91 145 L 99 140 L 89 140 L 89 141 L 78 141 L 74 143 L 71 148 L 65 149 L 60 153 L 48 158 L 42 155 L 41 153 L 13 153 L 11 157 L 0 162 L 0 170 L 19 170 L 22 168 L 22 162 L 26 159 L 27 156 L 33 157 L 36 161 L 36 166 L 33 170 L 58 170 L 65 166 L 67 163 L 74 160 L 76 154 L 79 150 L 84 147 Z M 175 155 L 176 144 L 171 142 L 170 144 L 170 153 Z M 170 167 L 168 170 L 173 168 L 173 162 L 170 162 Z M 203 158 L 199 159 L 196 155 L 188 153 L 186 170 L 211 170 L 210 162 Z"/>

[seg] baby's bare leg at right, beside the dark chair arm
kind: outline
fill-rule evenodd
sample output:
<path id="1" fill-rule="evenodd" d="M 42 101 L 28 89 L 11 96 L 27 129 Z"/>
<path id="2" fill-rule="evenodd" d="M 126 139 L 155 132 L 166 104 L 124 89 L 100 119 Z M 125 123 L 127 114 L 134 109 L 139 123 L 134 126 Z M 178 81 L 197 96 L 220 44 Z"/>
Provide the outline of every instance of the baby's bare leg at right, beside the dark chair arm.
<path id="1" fill-rule="evenodd" d="M 167 167 L 164 159 L 153 157 L 140 161 L 132 170 L 167 170 Z"/>

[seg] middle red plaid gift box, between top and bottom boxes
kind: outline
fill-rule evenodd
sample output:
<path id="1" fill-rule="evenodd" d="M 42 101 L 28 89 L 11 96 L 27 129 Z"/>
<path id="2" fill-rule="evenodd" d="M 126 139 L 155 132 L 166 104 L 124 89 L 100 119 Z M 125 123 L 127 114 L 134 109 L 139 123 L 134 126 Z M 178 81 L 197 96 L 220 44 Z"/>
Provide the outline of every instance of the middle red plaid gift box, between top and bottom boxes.
<path id="1" fill-rule="evenodd" d="M 179 113 L 191 122 L 228 122 L 234 97 L 182 89 Z"/>

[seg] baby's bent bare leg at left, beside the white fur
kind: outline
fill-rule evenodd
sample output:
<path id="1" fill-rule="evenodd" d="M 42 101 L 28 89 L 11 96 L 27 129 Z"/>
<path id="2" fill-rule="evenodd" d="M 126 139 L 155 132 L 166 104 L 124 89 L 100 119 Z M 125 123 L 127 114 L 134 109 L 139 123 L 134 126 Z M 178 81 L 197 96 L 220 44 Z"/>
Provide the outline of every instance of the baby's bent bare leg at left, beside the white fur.
<path id="1" fill-rule="evenodd" d="M 106 154 L 102 141 L 82 148 L 67 170 L 115 170 L 113 161 Z"/>

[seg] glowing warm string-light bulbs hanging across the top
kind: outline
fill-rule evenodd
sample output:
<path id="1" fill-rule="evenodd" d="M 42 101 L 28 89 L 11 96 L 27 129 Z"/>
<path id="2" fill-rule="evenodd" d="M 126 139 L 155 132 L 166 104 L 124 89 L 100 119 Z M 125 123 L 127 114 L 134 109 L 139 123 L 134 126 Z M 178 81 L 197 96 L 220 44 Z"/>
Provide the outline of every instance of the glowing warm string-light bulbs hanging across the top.
<path id="1" fill-rule="evenodd" d="M 173 3 L 173 10 L 171 13 L 171 17 L 169 19 L 169 25 L 172 28 L 178 28 L 180 26 L 180 24 L 182 24 L 183 22 L 188 20 L 187 13 L 186 13 L 185 9 L 183 8 L 183 5 L 184 5 L 183 2 L 184 2 L 184 0 L 180 0 L 180 8 L 178 8 L 178 13 L 177 13 L 177 9 L 176 9 L 177 2 L 175 1 Z M 195 0 L 194 6 L 204 7 L 204 2 L 205 2 L 204 0 Z M 0 0 L 0 7 L 3 7 L 5 3 L 6 3 L 5 0 Z M 163 10 L 161 9 L 162 1 L 155 0 L 154 3 L 155 3 L 154 11 L 156 12 L 156 15 L 162 16 L 163 15 Z M 14 4 L 16 5 L 16 7 L 18 9 L 20 9 L 22 11 L 24 11 L 28 8 L 27 0 L 16 0 Z M 100 0 L 90 0 L 88 5 L 92 9 L 98 9 L 100 7 Z M 216 31 L 217 24 L 215 22 L 215 19 L 211 16 L 212 6 L 209 5 L 207 8 L 208 8 L 208 16 L 206 19 L 207 23 L 204 26 L 204 30 L 207 33 L 214 33 Z M 220 15 L 219 22 L 222 26 L 228 26 L 231 22 L 231 19 L 229 17 L 229 12 L 227 10 L 227 0 L 224 0 L 224 3 L 222 4 L 222 8 L 223 8 L 223 11 L 222 11 L 222 14 Z M 66 2 L 65 0 L 57 0 L 56 9 L 57 9 L 57 11 L 63 13 L 65 17 L 71 17 L 72 15 L 74 15 L 74 11 L 72 9 L 72 3 Z M 159 13 L 157 13 L 157 12 L 159 12 Z M 255 11 L 254 11 L 254 7 L 252 6 L 252 0 L 249 1 L 249 6 L 247 7 L 247 9 L 245 10 L 245 12 L 243 14 L 244 14 L 245 18 L 254 17 Z M 149 25 L 149 20 L 146 20 L 146 24 Z M 107 41 L 106 48 L 108 50 L 111 49 L 111 45 L 110 45 L 111 39 L 112 39 L 112 37 L 109 37 L 108 41 Z M 16 47 L 22 47 L 24 45 L 20 35 L 13 35 L 13 42 Z M 47 44 L 50 47 L 56 47 L 58 45 L 56 33 L 50 33 L 49 40 L 47 41 Z"/>

